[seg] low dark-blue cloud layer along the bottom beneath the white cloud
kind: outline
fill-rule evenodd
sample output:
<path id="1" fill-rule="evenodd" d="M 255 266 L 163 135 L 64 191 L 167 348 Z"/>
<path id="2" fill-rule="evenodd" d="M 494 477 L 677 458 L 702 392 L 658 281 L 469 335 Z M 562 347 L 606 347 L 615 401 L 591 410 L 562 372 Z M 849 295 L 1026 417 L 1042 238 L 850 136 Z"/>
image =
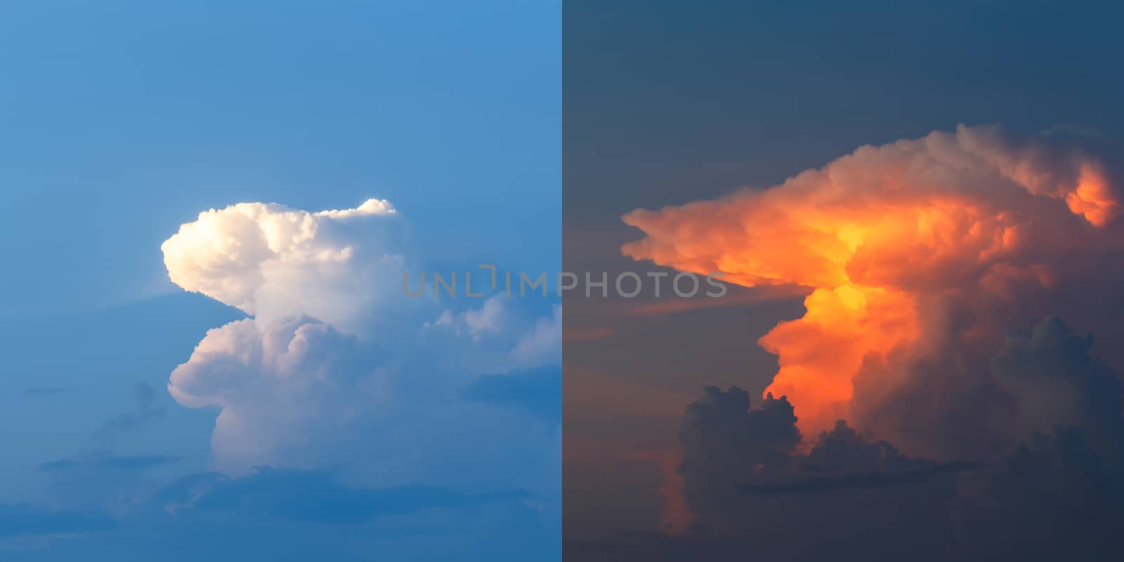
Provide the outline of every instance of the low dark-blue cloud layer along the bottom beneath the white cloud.
<path id="1" fill-rule="evenodd" d="M 0 504 L 0 558 L 558 560 L 556 520 L 525 490 L 364 488 L 328 471 L 187 474 L 117 516 Z"/>

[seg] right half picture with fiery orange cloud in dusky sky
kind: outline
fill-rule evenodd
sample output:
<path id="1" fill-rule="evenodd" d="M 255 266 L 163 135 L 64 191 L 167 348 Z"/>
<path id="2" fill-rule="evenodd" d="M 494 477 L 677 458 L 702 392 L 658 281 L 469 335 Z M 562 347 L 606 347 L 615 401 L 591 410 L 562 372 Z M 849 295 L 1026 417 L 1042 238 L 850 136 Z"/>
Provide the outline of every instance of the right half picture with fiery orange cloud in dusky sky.
<path id="1" fill-rule="evenodd" d="M 564 560 L 1124 559 L 1122 15 L 566 1 Z"/>

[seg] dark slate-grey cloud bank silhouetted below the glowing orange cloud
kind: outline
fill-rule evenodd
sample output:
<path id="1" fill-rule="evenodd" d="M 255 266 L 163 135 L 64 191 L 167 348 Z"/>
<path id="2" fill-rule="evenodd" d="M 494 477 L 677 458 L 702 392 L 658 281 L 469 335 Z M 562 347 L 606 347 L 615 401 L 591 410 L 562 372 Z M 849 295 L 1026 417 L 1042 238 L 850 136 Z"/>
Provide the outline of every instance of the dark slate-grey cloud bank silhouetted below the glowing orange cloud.
<path id="1" fill-rule="evenodd" d="M 1122 389 L 1090 347 L 1054 317 L 1010 333 L 990 366 L 1012 398 L 976 404 L 997 422 L 971 430 L 1025 433 L 986 462 L 910 457 L 842 420 L 803 442 L 786 398 L 754 409 L 741 389 L 707 388 L 680 432 L 688 531 L 568 547 L 588 560 L 1113 559 Z"/>

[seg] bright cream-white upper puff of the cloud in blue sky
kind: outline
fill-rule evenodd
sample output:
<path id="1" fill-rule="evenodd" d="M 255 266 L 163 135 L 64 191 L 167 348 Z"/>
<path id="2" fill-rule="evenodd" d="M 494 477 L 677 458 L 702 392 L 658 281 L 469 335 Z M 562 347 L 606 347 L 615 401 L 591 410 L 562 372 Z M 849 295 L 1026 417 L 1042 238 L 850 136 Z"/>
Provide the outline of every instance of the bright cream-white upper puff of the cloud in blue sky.
<path id="1" fill-rule="evenodd" d="M 401 271 L 398 223 L 381 199 L 319 212 L 238 203 L 200 212 L 161 251 L 183 289 L 260 318 L 307 314 L 351 328 Z"/>

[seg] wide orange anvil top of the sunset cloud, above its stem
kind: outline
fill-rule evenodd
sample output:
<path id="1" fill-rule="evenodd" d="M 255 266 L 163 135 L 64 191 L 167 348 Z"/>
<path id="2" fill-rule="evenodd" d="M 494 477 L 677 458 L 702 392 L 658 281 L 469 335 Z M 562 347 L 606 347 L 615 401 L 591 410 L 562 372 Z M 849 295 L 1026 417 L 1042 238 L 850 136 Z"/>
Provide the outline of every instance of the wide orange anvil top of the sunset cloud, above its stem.
<path id="1" fill-rule="evenodd" d="M 1120 212 L 1105 165 L 1075 148 L 961 126 L 863 146 L 780 185 L 635 210 L 626 255 L 745 285 L 924 284 L 930 274 L 1072 242 Z"/>

